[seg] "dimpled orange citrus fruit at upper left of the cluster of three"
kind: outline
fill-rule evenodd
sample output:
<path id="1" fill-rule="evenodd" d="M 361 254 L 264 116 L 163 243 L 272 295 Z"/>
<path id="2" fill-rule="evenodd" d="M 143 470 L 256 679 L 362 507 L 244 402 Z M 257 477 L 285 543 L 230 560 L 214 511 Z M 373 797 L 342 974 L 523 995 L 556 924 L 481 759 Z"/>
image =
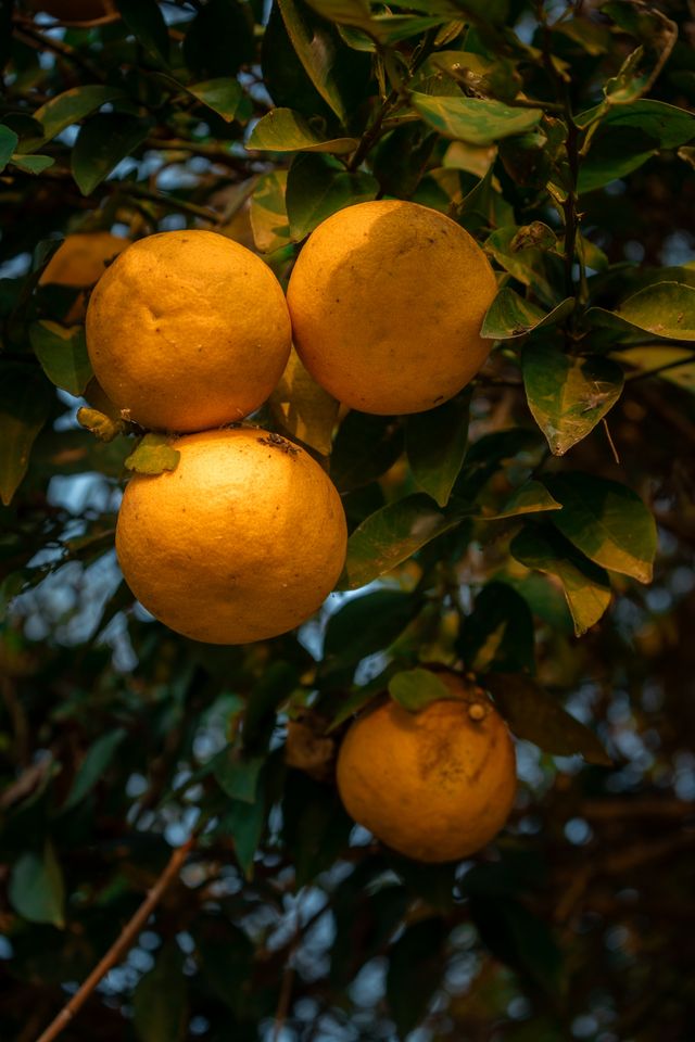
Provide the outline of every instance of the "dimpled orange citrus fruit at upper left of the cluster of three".
<path id="1" fill-rule="evenodd" d="M 132 243 L 87 309 L 94 374 L 144 428 L 202 431 L 268 397 L 290 353 L 280 283 L 245 246 L 212 231 Z"/>

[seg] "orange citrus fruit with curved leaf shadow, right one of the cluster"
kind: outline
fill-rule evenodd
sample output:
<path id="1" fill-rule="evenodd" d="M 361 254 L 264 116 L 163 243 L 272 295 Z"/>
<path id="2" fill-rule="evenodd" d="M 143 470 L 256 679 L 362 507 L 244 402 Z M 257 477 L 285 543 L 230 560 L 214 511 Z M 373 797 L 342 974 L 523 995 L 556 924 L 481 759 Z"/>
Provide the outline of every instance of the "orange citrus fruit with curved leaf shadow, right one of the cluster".
<path id="1" fill-rule="evenodd" d="M 468 383 L 496 292 L 477 242 L 438 211 L 358 203 L 309 236 L 292 271 L 294 345 L 333 397 L 363 412 L 431 409 Z"/>

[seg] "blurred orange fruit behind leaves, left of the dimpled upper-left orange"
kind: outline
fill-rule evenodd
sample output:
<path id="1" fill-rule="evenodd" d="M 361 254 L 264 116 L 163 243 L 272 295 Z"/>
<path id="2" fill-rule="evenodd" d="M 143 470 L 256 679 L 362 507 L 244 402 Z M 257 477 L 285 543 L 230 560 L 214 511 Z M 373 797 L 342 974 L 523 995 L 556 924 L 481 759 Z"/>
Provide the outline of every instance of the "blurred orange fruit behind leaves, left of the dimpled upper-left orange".
<path id="1" fill-rule="evenodd" d="M 79 231 L 68 236 L 47 264 L 41 285 L 66 285 L 87 290 L 99 281 L 106 265 L 129 244 L 110 231 Z M 80 293 L 65 315 L 65 321 L 81 322 L 87 310 L 87 294 Z"/>

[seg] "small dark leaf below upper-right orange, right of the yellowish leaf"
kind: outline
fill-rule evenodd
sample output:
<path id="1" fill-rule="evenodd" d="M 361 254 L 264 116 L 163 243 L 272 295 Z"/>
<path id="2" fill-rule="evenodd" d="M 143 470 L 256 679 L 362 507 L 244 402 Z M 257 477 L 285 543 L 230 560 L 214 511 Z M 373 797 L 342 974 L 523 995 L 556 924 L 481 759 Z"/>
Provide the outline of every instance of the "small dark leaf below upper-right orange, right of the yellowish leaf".
<path id="1" fill-rule="evenodd" d="M 351 492 L 386 473 L 402 452 L 397 419 L 351 409 L 333 443 L 330 476 L 340 492 Z"/>

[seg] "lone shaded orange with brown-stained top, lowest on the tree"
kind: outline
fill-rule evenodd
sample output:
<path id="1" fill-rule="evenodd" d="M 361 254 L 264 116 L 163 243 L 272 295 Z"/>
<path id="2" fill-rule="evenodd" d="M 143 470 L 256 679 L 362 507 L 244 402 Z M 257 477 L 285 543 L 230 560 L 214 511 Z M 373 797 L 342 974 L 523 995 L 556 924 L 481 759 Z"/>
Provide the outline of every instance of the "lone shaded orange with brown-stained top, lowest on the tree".
<path id="1" fill-rule="evenodd" d="M 389 699 L 358 717 L 338 755 L 348 813 L 388 847 L 424 862 L 465 857 L 503 827 L 516 791 L 506 724 L 486 697 L 439 674 L 455 700 L 412 713 Z"/>

